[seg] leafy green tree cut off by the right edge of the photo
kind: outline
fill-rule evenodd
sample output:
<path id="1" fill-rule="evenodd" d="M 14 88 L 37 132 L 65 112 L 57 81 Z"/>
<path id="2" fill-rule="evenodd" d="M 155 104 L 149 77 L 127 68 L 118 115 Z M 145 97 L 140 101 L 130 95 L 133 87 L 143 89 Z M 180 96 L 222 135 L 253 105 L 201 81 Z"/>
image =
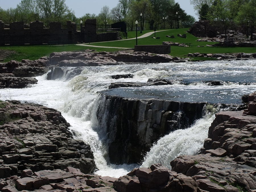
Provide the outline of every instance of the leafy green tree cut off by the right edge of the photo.
<path id="1" fill-rule="evenodd" d="M 253 40 L 253 29 L 256 26 L 256 0 L 250 0 L 241 6 L 237 15 L 237 21 L 250 27 L 251 40 Z"/>

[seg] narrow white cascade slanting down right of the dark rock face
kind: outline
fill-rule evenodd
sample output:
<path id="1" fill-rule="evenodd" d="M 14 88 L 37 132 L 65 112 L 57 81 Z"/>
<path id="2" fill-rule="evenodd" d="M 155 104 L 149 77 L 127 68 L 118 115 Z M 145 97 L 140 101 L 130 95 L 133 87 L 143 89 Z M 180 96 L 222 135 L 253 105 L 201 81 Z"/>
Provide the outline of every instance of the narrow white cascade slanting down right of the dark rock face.
<path id="1" fill-rule="evenodd" d="M 208 136 L 208 128 L 214 118 L 214 114 L 209 113 L 197 120 L 191 127 L 173 131 L 159 139 L 147 152 L 142 167 L 161 163 L 171 168 L 170 162 L 177 156 L 193 155 L 199 152 L 204 139 Z"/>

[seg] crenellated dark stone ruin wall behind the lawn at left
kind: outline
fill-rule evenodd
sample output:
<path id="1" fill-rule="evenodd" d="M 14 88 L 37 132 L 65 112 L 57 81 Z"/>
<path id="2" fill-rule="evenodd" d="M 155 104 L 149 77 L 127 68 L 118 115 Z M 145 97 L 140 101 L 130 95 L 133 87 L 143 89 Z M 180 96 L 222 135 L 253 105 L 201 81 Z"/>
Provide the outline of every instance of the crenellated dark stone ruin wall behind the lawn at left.
<path id="1" fill-rule="evenodd" d="M 51 45 L 51 44 L 76 44 L 80 42 L 99 42 L 117 40 L 117 33 L 97 34 L 96 19 L 87 19 L 82 31 L 77 31 L 77 26 L 67 21 L 66 26 L 60 22 L 50 22 L 49 27 L 44 22 L 35 21 L 28 25 L 24 22 L 12 22 L 5 25 L 0 21 L 0 46 L 4 45 Z"/>

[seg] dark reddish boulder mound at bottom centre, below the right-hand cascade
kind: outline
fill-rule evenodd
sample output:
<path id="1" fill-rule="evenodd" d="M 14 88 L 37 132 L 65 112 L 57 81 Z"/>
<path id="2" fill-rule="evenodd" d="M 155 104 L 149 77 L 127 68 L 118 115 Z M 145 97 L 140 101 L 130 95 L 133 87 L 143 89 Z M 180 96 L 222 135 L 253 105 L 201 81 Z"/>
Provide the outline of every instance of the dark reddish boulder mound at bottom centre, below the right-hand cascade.
<path id="1" fill-rule="evenodd" d="M 161 164 L 136 168 L 114 182 L 117 191 L 197 191 L 196 182 L 188 176 L 172 172 Z"/>

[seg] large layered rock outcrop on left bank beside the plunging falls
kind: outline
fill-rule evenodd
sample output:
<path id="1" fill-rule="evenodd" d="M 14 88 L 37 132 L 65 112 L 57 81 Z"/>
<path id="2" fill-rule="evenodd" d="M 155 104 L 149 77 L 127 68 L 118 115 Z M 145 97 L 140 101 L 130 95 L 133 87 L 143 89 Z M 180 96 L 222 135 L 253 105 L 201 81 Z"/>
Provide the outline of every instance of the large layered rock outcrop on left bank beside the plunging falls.
<path id="1" fill-rule="evenodd" d="M 15 100 L 2 102 L 2 106 L 0 178 L 29 176 L 29 171 L 20 172 L 26 169 L 34 172 L 73 166 L 85 174 L 94 171 L 90 146 L 73 139 L 68 128 L 70 125 L 60 112 Z M 28 190 L 24 187 L 19 189 Z"/>

